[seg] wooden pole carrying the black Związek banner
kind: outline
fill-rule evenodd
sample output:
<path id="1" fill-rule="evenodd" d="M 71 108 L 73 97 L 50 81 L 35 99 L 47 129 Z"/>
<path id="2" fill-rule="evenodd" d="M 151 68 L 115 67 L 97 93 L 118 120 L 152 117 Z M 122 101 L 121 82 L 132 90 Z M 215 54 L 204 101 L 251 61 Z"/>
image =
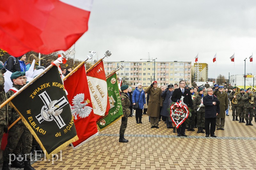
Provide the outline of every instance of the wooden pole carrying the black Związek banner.
<path id="1" fill-rule="evenodd" d="M 61 59 L 67 58 L 64 53 L 61 53 L 63 57 Z M 11 97 L 9 97 L 7 100 L 5 100 L 1 105 L 0 108 L 2 108 L 4 105 L 6 105 L 8 102 L 10 102 L 14 97 L 16 97 L 18 94 L 20 94 L 23 90 L 28 88 L 29 85 L 34 83 L 38 78 L 40 78 L 44 73 L 46 73 L 48 70 L 50 70 L 53 67 L 53 65 L 49 65 L 46 69 L 44 69 L 40 74 L 38 74 L 35 78 L 33 78 L 31 81 L 29 81 L 26 85 L 24 85 L 19 91 L 14 93 Z"/>

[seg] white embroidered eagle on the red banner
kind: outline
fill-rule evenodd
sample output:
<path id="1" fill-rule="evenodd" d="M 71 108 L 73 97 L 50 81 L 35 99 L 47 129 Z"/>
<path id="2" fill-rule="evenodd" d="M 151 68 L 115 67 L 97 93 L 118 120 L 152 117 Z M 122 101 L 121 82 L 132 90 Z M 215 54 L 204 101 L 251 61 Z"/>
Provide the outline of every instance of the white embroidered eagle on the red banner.
<path id="1" fill-rule="evenodd" d="M 77 115 L 81 118 L 85 118 L 90 115 L 92 107 L 86 106 L 89 102 L 90 100 L 88 99 L 84 100 L 84 93 L 74 96 L 74 99 L 72 99 L 73 106 L 70 106 L 70 108 L 75 120 L 77 119 Z"/>

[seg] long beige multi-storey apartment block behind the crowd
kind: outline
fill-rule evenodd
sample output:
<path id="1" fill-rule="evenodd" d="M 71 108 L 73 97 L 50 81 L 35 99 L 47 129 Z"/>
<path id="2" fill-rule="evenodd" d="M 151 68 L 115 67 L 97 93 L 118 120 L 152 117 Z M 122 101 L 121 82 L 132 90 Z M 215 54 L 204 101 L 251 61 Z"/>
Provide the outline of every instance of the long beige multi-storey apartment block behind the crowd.
<path id="1" fill-rule="evenodd" d="M 124 68 L 117 71 L 117 76 L 129 82 L 135 87 L 138 83 L 142 86 L 149 86 L 155 80 L 158 85 L 169 85 L 179 83 L 180 80 L 187 80 L 191 84 L 191 62 L 105 62 L 104 69 L 109 74 L 116 66 L 123 65 Z"/>

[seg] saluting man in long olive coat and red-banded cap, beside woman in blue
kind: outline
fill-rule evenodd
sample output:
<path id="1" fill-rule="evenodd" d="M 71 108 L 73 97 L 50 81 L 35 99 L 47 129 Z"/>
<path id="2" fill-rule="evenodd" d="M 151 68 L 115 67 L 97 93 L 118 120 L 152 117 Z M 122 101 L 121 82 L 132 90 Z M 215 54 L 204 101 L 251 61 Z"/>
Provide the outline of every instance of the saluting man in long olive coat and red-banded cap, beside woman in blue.
<path id="1" fill-rule="evenodd" d="M 146 90 L 148 93 L 148 111 L 147 115 L 150 116 L 151 128 L 158 129 L 160 106 L 163 106 L 163 97 L 161 96 L 162 90 L 157 87 L 157 82 L 154 81 Z"/>

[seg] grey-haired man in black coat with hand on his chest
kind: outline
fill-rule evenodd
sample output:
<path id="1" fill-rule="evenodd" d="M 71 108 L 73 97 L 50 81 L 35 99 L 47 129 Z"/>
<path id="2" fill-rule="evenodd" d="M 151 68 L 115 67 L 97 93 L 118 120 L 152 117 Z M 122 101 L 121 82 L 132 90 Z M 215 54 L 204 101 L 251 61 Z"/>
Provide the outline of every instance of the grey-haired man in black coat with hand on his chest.
<path id="1" fill-rule="evenodd" d="M 207 95 L 203 98 L 205 109 L 205 137 L 209 137 L 209 135 L 211 135 L 211 137 L 217 137 L 214 132 L 216 128 L 216 116 L 220 113 L 220 101 L 215 95 L 213 95 L 212 88 L 206 89 L 206 92 Z"/>

